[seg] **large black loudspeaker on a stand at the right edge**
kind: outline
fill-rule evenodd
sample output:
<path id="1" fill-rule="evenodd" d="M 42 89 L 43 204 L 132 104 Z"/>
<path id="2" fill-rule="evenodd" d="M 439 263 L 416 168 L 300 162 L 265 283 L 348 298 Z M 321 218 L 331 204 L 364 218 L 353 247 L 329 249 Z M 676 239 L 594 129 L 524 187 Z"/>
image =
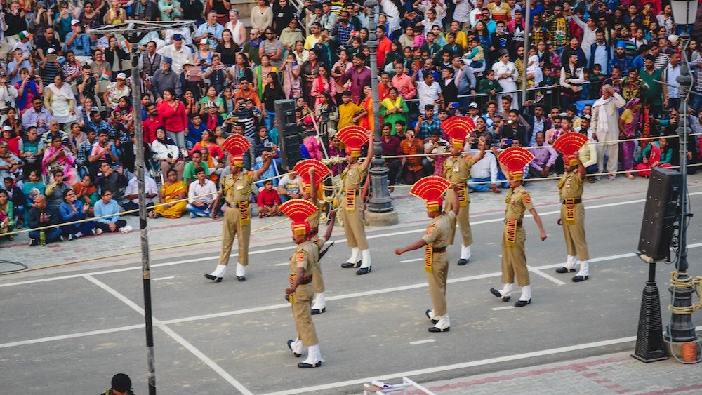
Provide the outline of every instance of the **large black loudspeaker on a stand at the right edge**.
<path id="1" fill-rule="evenodd" d="M 639 252 L 652 260 L 670 260 L 670 239 L 679 214 L 682 174 L 653 168 L 639 234 Z"/>

